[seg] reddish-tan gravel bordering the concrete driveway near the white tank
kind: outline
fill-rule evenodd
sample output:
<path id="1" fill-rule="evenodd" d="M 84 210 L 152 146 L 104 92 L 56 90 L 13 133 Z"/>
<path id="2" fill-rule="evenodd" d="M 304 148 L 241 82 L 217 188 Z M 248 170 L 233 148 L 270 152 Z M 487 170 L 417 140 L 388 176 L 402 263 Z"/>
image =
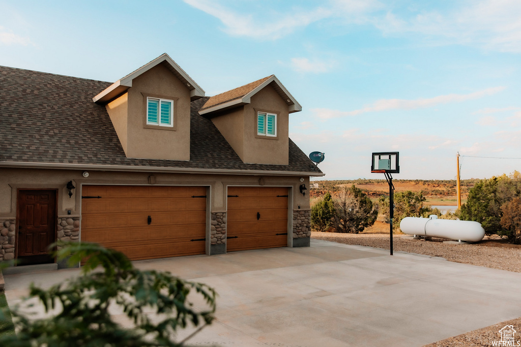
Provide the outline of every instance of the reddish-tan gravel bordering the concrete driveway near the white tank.
<path id="1" fill-rule="evenodd" d="M 311 237 L 319 240 L 389 249 L 389 235 L 386 234 L 339 234 L 312 232 Z M 508 245 L 498 239 L 484 239 L 474 244 L 450 244 L 442 239 L 432 241 L 414 240 L 406 235 L 394 235 L 394 251 L 404 251 L 430 256 L 441 256 L 446 260 L 521 273 L 521 247 Z M 489 327 L 470 331 L 424 347 L 491 346 L 491 341 L 500 339 L 498 331 L 505 325 L 521 329 L 521 318 L 508 320 Z M 517 343 L 517 336 L 514 345 Z"/>

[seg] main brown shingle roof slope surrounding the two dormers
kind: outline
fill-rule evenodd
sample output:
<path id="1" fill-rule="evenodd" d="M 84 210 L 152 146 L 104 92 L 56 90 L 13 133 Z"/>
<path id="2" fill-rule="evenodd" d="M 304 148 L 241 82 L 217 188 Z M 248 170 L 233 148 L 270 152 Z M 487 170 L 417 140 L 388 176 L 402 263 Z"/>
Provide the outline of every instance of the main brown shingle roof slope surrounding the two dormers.
<path id="1" fill-rule="evenodd" d="M 110 83 L 0 67 L 2 162 L 123 165 L 180 169 L 312 172 L 292 140 L 289 165 L 246 164 L 192 101 L 190 161 L 127 158 L 105 106 L 92 97 Z M 124 170 L 124 169 L 123 169 Z M 316 171 L 321 174 L 321 171 Z"/>

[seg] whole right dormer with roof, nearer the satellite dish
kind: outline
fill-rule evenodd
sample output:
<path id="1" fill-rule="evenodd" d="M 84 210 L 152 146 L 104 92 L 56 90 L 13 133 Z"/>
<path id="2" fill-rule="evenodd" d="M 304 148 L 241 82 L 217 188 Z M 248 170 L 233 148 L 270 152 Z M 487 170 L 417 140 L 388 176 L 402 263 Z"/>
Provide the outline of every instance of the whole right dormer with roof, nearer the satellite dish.
<path id="1" fill-rule="evenodd" d="M 244 163 L 288 165 L 289 114 L 301 110 L 271 75 L 210 97 L 199 113 L 212 119 Z"/>

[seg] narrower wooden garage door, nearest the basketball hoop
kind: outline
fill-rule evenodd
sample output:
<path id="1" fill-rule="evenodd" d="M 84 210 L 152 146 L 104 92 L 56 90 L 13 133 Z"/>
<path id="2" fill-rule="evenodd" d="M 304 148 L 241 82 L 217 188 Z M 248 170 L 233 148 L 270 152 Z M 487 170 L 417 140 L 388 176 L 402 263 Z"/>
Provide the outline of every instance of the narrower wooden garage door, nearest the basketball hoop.
<path id="1" fill-rule="evenodd" d="M 226 250 L 288 245 L 288 188 L 228 187 Z"/>

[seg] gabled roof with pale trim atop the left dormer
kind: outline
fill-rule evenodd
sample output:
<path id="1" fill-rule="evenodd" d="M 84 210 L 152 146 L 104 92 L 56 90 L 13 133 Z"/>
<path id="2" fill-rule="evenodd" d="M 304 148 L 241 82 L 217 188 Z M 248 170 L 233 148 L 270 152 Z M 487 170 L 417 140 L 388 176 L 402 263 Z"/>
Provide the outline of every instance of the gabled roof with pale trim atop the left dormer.
<path id="1" fill-rule="evenodd" d="M 130 87 L 132 87 L 133 79 L 159 64 L 163 64 L 167 67 L 185 86 L 187 86 L 192 101 L 204 96 L 203 88 L 197 85 L 197 83 L 195 83 L 195 81 L 192 80 L 190 76 L 184 72 L 184 70 L 181 69 L 172 58 L 170 58 L 170 56 L 168 56 L 168 54 L 164 53 L 151 62 L 143 65 L 141 68 L 114 82 L 108 88 L 104 89 L 103 92 L 93 97 L 92 101 L 96 102 L 96 104 L 107 104 L 109 101 L 125 93 Z"/>

